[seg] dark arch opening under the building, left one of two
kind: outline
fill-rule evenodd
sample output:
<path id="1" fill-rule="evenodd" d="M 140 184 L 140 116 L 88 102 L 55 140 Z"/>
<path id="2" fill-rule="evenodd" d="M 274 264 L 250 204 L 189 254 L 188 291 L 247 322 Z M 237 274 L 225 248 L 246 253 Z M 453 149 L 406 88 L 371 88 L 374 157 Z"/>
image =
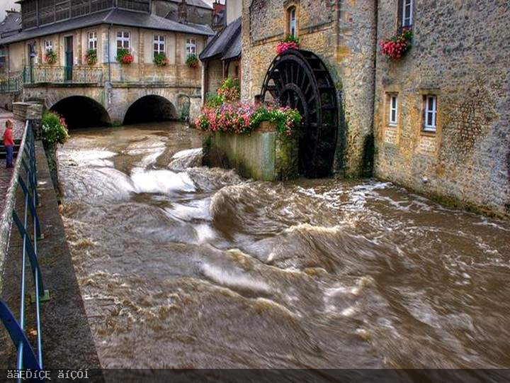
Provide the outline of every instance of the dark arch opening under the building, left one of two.
<path id="1" fill-rule="evenodd" d="M 70 129 L 111 125 L 104 106 L 87 96 L 67 96 L 48 107 L 63 116 Z"/>

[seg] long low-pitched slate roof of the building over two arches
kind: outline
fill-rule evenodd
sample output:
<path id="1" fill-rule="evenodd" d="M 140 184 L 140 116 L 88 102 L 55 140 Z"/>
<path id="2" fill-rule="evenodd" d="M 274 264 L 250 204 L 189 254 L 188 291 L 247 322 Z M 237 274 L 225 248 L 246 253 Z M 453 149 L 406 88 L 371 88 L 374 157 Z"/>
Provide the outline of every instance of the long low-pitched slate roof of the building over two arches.
<path id="1" fill-rule="evenodd" d="M 53 33 L 62 33 L 67 30 L 96 26 L 99 24 L 169 30 L 171 32 L 189 33 L 191 35 L 214 35 L 214 32 L 209 26 L 178 23 L 149 13 L 127 11 L 125 9 L 109 9 L 79 18 L 71 18 L 66 21 L 48 24 L 47 26 L 41 26 L 39 28 L 22 30 L 21 33 L 17 33 L 16 35 L 0 38 L 0 44 L 14 43 L 16 41 L 28 40 L 30 38 L 51 35 Z"/>

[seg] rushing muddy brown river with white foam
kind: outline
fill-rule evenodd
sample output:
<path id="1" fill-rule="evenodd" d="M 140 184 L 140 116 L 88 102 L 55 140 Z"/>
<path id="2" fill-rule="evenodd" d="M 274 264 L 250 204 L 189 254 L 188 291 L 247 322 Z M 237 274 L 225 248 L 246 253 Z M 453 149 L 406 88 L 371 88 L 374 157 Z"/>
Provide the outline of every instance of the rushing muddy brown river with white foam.
<path id="1" fill-rule="evenodd" d="M 508 223 L 375 180 L 247 181 L 200 145 L 161 123 L 60 149 L 103 367 L 510 367 Z"/>

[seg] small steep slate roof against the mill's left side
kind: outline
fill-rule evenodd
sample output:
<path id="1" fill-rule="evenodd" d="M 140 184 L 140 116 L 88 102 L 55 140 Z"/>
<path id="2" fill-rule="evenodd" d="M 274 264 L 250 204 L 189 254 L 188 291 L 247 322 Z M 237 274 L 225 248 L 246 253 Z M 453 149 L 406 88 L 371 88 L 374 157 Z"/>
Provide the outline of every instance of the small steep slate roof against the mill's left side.
<path id="1" fill-rule="evenodd" d="M 232 60 L 241 55 L 241 48 L 241 18 L 238 18 L 212 38 L 200 53 L 200 60 Z"/>

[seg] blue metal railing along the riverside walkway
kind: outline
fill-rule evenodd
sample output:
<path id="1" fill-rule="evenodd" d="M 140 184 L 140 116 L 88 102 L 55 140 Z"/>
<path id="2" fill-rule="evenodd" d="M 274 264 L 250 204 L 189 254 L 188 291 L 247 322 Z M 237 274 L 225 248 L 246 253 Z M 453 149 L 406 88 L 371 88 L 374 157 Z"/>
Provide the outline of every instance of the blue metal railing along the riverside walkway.
<path id="1" fill-rule="evenodd" d="M 40 272 L 38 262 L 38 240 L 42 238 L 40 230 L 40 222 L 37 214 L 39 205 L 39 197 L 37 191 L 37 165 L 35 162 L 35 138 L 34 133 L 26 123 L 26 129 L 21 142 L 21 147 L 16 162 L 16 170 L 18 170 L 17 185 L 13 187 L 13 194 L 16 194 L 18 186 L 23 191 L 23 214 L 21 218 L 16 213 L 14 206 L 7 206 L 11 209 L 12 220 L 14 226 L 21 235 L 23 245 L 21 247 L 21 293 L 20 293 L 20 313 L 19 320 L 8 308 L 5 301 L 0 299 L 0 319 L 4 323 L 8 334 L 17 348 L 16 368 L 18 370 L 42 370 L 42 332 L 40 318 L 40 303 L 49 299 L 49 294 L 44 289 L 42 283 L 42 274 Z M 25 177 L 22 176 L 24 172 Z M 13 226 L 11 226 L 12 228 Z M 27 260 L 28 258 L 28 260 Z M 27 262 L 28 261 L 28 262 Z M 33 303 L 35 303 L 35 324 L 37 331 L 37 353 L 30 345 L 25 331 L 25 311 L 26 311 L 26 290 L 27 290 L 27 263 L 30 265 L 33 276 L 34 293 Z"/>

